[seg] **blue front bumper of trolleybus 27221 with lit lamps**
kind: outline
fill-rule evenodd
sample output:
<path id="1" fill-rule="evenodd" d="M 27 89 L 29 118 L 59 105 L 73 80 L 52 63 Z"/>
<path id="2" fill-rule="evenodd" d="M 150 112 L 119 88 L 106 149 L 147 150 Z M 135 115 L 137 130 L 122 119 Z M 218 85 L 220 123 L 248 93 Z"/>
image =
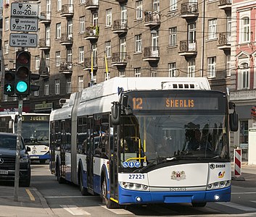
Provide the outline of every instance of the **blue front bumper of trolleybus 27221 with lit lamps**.
<path id="1" fill-rule="evenodd" d="M 119 186 L 119 204 L 146 203 L 205 203 L 228 202 L 231 200 L 231 187 L 220 190 L 191 192 L 144 192 L 125 190 Z"/>

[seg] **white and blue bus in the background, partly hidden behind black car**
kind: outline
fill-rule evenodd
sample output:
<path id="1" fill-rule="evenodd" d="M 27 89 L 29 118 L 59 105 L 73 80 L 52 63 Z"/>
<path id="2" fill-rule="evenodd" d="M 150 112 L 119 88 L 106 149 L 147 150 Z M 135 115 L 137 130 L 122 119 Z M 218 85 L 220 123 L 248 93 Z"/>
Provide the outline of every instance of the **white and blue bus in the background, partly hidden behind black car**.
<path id="1" fill-rule="evenodd" d="M 17 112 L 0 112 L 0 132 L 17 133 Z M 22 132 L 31 161 L 49 160 L 49 114 L 22 113 Z"/>

